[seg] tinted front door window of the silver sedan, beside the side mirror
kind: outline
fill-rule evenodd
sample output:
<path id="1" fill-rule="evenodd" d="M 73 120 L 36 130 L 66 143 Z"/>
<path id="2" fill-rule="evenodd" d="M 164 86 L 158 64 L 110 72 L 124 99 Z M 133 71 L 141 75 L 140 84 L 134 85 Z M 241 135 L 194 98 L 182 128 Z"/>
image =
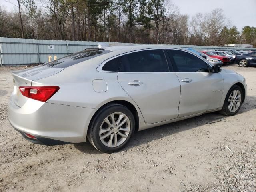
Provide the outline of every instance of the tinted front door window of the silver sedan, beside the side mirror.
<path id="1" fill-rule="evenodd" d="M 167 50 L 176 72 L 209 72 L 208 65 L 191 53 L 180 50 Z"/>

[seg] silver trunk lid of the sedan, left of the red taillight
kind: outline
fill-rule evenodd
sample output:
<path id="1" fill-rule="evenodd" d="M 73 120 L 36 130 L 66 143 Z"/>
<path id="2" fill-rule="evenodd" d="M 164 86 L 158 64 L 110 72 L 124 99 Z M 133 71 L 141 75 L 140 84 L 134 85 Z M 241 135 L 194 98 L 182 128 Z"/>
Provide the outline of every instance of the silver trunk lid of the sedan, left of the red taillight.
<path id="1" fill-rule="evenodd" d="M 20 86 L 31 86 L 32 81 L 52 76 L 64 68 L 52 68 L 47 66 L 36 66 L 25 70 L 12 71 L 12 77 L 14 82 L 14 90 L 12 99 L 14 103 L 22 107 L 28 100 L 27 97 L 23 96 L 20 92 Z"/>

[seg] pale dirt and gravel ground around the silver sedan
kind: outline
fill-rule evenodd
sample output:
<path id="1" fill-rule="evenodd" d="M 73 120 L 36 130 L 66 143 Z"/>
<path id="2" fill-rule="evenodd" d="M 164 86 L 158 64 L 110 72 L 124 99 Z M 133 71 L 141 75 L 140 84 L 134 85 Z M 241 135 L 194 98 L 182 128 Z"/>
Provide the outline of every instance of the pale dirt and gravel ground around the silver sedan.
<path id="1" fill-rule="evenodd" d="M 1 192 L 231 191 L 232 169 L 244 179 L 234 184 L 235 191 L 256 191 L 256 68 L 225 67 L 242 74 L 248 84 L 237 115 L 214 112 L 144 130 L 114 154 L 103 154 L 89 142 L 42 146 L 22 138 L 7 115 L 10 70 L 22 68 L 0 67 Z M 248 166 L 248 176 L 241 176 Z"/>

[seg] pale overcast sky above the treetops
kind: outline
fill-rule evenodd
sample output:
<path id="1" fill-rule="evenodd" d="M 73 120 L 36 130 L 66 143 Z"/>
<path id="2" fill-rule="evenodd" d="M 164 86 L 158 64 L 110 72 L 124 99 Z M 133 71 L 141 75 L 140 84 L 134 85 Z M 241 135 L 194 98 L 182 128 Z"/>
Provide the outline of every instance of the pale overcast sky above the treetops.
<path id="1" fill-rule="evenodd" d="M 7 0 L 17 4 L 16 0 Z M 38 7 L 42 6 L 35 0 Z M 180 8 L 181 14 L 193 16 L 198 12 L 211 12 L 215 8 L 222 8 L 230 25 L 235 25 L 239 31 L 246 25 L 256 27 L 256 0 L 172 0 Z M 0 6 L 7 10 L 16 9 L 14 5 L 0 0 Z"/>

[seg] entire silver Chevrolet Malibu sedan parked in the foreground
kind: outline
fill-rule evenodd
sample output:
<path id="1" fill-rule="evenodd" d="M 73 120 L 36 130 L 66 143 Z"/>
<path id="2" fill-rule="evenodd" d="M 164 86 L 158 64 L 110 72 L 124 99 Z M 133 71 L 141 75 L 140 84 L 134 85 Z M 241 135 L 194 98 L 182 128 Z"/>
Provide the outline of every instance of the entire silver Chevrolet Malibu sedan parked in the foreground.
<path id="1" fill-rule="evenodd" d="M 12 72 L 10 124 L 37 144 L 89 142 L 106 153 L 134 132 L 238 112 L 245 78 L 171 46 L 92 48 Z"/>

